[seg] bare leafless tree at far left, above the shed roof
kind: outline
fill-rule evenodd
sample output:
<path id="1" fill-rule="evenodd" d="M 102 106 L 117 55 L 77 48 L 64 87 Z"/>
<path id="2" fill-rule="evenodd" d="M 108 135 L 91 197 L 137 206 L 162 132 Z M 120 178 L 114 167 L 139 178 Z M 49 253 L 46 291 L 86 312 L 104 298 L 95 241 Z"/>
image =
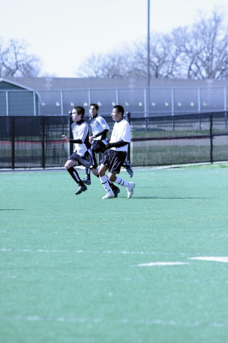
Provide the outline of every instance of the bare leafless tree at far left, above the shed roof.
<path id="1" fill-rule="evenodd" d="M 27 52 L 24 41 L 0 39 L 0 76 L 35 77 L 40 72 L 40 59 Z"/>

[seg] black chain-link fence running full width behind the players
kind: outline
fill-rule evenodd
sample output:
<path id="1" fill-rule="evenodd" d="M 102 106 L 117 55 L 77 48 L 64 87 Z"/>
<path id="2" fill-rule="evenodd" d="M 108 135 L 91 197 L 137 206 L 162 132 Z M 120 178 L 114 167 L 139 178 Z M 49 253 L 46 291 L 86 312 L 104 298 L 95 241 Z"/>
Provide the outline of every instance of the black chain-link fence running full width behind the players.
<path id="1" fill-rule="evenodd" d="M 113 120 L 109 124 L 110 137 Z M 228 161 L 227 113 L 130 118 L 132 141 L 128 161 L 133 166 Z M 68 116 L 0 116 L 0 168 L 64 166 L 72 145 Z M 99 159 L 99 156 L 98 156 Z"/>

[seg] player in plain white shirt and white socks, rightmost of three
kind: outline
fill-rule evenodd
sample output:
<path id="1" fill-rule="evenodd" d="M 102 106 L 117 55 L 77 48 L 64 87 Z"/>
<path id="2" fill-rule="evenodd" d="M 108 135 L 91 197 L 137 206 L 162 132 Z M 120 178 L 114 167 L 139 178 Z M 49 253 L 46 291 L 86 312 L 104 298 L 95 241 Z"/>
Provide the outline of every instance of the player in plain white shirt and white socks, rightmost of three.
<path id="1" fill-rule="evenodd" d="M 121 105 L 113 107 L 111 117 L 115 122 L 110 142 L 106 144 L 107 150 L 104 152 L 103 159 L 99 168 L 100 181 L 106 191 L 102 199 L 114 198 L 115 194 L 110 188 L 109 180 L 126 187 L 128 198 L 134 193 L 134 182 L 128 182 L 116 174 L 120 173 L 121 166 L 126 159 L 128 144 L 131 141 L 130 124 L 124 119 L 124 108 Z M 109 171 L 108 177 L 105 174 Z"/>

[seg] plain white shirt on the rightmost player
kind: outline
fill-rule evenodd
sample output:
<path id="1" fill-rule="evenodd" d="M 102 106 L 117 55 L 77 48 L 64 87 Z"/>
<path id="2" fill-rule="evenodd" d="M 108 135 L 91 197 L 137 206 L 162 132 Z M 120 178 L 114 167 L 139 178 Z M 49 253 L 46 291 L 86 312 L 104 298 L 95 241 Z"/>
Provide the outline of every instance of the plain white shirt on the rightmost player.
<path id="1" fill-rule="evenodd" d="M 131 128 L 130 124 L 126 119 L 122 119 L 119 122 L 115 122 L 112 133 L 111 133 L 111 138 L 110 138 L 110 143 L 116 143 L 119 141 L 125 141 L 130 143 L 131 142 Z M 121 146 L 119 148 L 111 148 L 111 150 L 116 150 L 116 151 L 128 151 L 128 144 Z"/>

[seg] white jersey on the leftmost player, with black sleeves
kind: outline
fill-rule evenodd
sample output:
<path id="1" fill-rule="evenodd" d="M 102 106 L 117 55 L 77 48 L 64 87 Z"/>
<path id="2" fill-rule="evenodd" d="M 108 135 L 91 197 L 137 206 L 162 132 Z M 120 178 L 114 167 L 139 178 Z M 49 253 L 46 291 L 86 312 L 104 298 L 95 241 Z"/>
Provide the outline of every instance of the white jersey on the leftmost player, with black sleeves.
<path id="1" fill-rule="evenodd" d="M 84 156 L 87 151 L 87 146 L 84 142 L 89 141 L 89 126 L 86 121 L 83 121 L 80 124 L 73 122 L 71 124 L 71 130 L 73 133 L 73 139 L 81 139 L 81 141 L 83 142 L 74 143 L 74 147 L 80 156 Z"/>

